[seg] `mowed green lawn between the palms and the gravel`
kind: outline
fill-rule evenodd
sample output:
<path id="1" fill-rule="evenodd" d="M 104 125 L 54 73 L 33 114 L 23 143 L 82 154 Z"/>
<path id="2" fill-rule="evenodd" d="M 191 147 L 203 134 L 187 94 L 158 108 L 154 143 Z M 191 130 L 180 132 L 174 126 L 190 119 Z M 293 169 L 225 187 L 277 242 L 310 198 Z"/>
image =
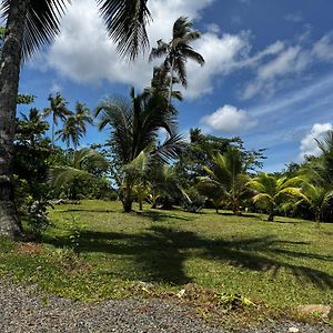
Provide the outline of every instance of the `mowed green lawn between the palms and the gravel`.
<path id="1" fill-rule="evenodd" d="M 194 283 L 279 309 L 333 304 L 333 224 L 149 205 L 125 214 L 103 201 L 58 205 L 50 216 L 41 245 L 0 240 L 2 276 L 83 301 L 129 296 L 143 281 L 174 293 Z"/>

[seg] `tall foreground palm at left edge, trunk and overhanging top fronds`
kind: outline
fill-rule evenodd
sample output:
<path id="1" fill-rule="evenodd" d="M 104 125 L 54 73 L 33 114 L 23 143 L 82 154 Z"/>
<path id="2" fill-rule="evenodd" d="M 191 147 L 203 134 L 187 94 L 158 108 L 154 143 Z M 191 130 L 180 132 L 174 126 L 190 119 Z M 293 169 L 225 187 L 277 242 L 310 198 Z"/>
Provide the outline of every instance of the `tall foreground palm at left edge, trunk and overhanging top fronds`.
<path id="1" fill-rule="evenodd" d="M 20 234 L 13 204 L 11 163 L 22 57 L 36 53 L 59 33 L 59 17 L 70 0 L 2 0 L 6 33 L 0 58 L 0 234 Z M 133 59 L 148 47 L 147 0 L 97 0 L 109 36 Z"/>

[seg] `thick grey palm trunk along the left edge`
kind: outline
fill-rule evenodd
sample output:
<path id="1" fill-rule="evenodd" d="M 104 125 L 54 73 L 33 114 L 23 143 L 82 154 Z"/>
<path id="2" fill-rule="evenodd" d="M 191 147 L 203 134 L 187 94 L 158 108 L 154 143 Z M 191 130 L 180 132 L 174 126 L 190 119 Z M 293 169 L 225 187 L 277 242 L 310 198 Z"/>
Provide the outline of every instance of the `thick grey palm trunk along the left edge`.
<path id="1" fill-rule="evenodd" d="M 0 234 L 20 235 L 13 201 L 12 154 L 22 42 L 29 0 L 10 1 L 0 63 Z"/>

